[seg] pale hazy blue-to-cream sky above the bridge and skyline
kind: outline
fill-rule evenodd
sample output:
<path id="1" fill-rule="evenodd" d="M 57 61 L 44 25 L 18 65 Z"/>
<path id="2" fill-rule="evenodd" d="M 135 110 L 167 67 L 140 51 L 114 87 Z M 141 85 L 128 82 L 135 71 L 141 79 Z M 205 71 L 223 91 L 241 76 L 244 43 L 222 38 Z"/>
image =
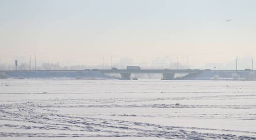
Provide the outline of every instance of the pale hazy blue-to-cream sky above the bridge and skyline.
<path id="1" fill-rule="evenodd" d="M 256 0 L 0 0 L 0 63 L 256 56 Z M 231 19 L 227 22 L 226 19 Z M 33 57 L 32 57 L 33 58 Z M 256 57 L 255 57 L 256 58 Z"/>

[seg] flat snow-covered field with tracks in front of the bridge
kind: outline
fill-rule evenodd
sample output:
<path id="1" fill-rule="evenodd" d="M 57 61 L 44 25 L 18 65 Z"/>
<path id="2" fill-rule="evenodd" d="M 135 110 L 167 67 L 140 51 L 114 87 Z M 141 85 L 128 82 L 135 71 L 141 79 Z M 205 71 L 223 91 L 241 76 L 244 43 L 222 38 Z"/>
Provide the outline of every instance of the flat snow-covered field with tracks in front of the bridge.
<path id="1" fill-rule="evenodd" d="M 1 140 L 256 139 L 256 81 L 0 80 Z"/>

